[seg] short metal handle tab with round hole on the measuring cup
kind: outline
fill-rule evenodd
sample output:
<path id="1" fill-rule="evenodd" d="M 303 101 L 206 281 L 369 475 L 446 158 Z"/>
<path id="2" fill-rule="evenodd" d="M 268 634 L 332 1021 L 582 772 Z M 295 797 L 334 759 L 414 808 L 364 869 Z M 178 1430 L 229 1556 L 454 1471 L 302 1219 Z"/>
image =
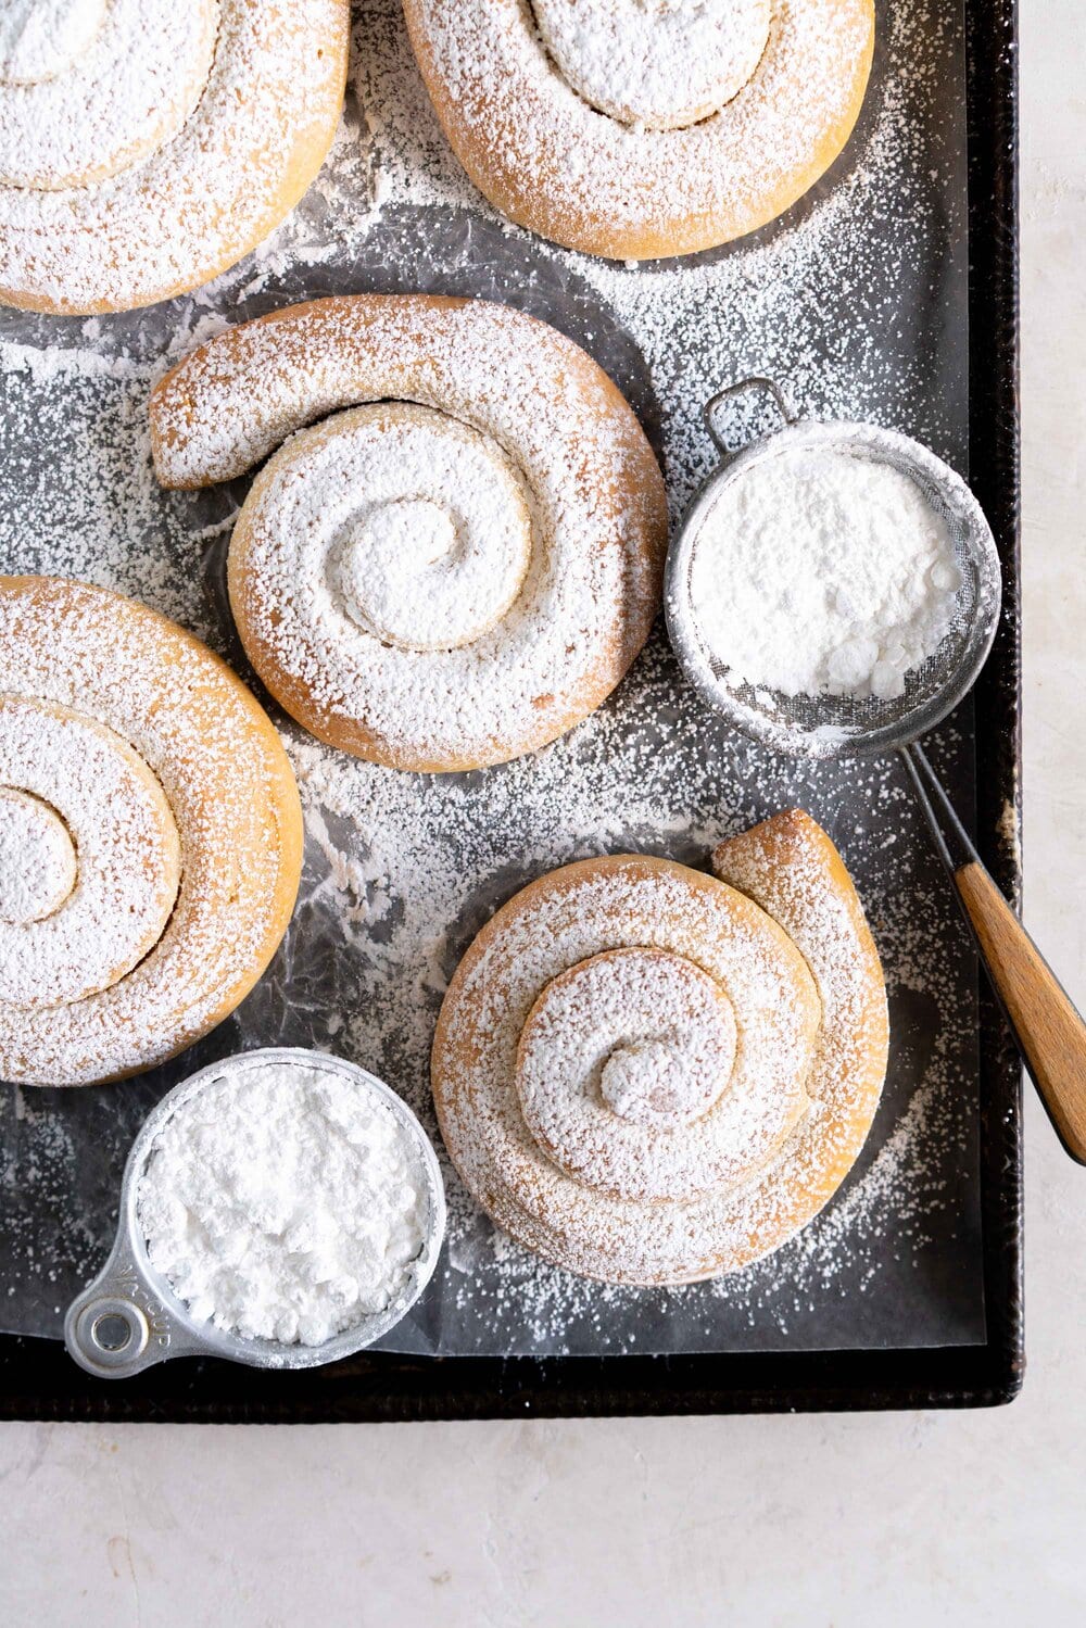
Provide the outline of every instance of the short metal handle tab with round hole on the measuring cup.
<path id="1" fill-rule="evenodd" d="M 98 1379 L 129 1379 L 155 1363 L 200 1350 L 145 1281 L 124 1241 L 68 1306 L 63 1343 Z"/>

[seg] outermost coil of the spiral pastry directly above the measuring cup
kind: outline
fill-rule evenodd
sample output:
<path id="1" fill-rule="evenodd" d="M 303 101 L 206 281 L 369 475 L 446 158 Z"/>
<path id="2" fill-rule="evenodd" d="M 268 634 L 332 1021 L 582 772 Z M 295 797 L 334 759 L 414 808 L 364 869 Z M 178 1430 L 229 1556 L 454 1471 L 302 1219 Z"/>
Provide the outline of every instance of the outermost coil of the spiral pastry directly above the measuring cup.
<path id="1" fill-rule="evenodd" d="M 181 887 L 156 946 L 75 1006 L 0 1008 L 0 1073 L 33 1084 L 140 1073 L 221 1022 L 278 947 L 301 876 L 290 762 L 205 645 L 85 583 L 0 578 L 0 687 L 107 724 L 161 785 L 181 837 Z"/>

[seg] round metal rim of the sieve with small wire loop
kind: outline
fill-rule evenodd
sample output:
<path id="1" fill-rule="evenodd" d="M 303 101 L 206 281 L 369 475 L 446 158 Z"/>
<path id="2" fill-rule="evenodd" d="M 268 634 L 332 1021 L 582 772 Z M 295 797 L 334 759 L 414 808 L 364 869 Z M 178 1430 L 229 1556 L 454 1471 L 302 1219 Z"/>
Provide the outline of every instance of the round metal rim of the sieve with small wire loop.
<path id="1" fill-rule="evenodd" d="M 754 387 L 770 391 L 785 423 L 755 436 L 738 451 L 731 451 L 718 435 L 713 420 L 715 409 L 725 397 Z M 671 539 L 664 567 L 668 637 L 694 689 L 713 711 L 728 718 L 736 729 L 790 757 L 825 760 L 839 755 L 869 755 L 904 746 L 933 729 L 969 694 L 988 658 L 1000 625 L 1001 570 L 998 550 L 992 527 L 967 482 L 928 446 L 899 430 L 848 418 L 795 417 L 780 387 L 765 378 L 742 379 L 728 386 L 707 404 L 705 420 L 713 441 L 723 453 L 723 462 L 710 470 L 690 498 Z M 700 527 L 726 485 L 739 479 L 754 462 L 773 456 L 783 446 L 843 446 L 889 462 L 913 477 L 918 475 L 922 490 L 925 487 L 938 490 L 941 503 L 959 519 L 962 531 L 970 537 L 969 554 L 977 568 L 977 607 L 970 619 L 970 638 L 966 650 L 951 669 L 946 684 L 884 726 L 856 733 L 790 731 L 755 708 L 746 707 L 739 697 L 726 689 L 713 672 L 712 659 L 700 638 L 689 593 L 690 562 Z"/>

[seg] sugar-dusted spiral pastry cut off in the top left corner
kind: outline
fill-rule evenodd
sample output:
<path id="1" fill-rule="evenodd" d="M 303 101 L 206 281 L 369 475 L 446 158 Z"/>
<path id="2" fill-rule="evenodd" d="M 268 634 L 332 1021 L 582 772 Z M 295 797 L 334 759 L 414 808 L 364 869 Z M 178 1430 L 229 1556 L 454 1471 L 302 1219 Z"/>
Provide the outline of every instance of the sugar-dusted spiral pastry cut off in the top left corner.
<path id="1" fill-rule="evenodd" d="M 7 0 L 0 300 L 127 311 L 217 277 L 316 176 L 348 0 Z"/>

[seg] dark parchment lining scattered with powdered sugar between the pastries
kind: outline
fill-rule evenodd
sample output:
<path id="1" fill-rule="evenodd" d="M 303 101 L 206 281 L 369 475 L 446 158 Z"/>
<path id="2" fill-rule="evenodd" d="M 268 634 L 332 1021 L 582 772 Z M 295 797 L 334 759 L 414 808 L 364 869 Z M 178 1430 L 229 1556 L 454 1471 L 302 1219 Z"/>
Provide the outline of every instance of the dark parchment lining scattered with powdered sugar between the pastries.
<path id="1" fill-rule="evenodd" d="M 832 177 L 757 238 L 627 270 L 498 220 L 441 137 L 399 0 L 361 0 L 358 101 L 317 186 L 256 256 L 153 313 L 90 324 L 0 317 L 0 557 L 137 594 L 241 663 L 221 576 L 244 487 L 195 498 L 158 487 L 148 387 L 230 322 L 360 288 L 479 293 L 565 327 L 658 435 L 676 518 L 718 456 L 702 405 L 747 373 L 788 381 L 816 417 L 905 428 L 961 466 L 961 62 L 952 11 L 933 0 L 881 7 L 866 109 Z M 762 423 L 736 404 L 726 431 L 738 444 Z M 891 991 L 894 1048 L 873 1135 L 834 1205 L 770 1260 L 681 1291 L 588 1283 L 495 1234 L 448 1172 L 444 1270 L 397 1330 L 401 1348 L 713 1351 L 983 1337 L 975 972 L 892 762 L 812 770 L 772 760 L 708 716 L 659 635 L 568 737 L 484 775 L 397 775 L 290 726 L 285 736 L 309 838 L 300 907 L 272 972 L 200 1060 L 244 1045 L 322 1045 L 383 1074 L 427 1117 L 440 1000 L 495 905 L 606 850 L 703 864 L 721 837 L 793 803 L 840 845 Z M 967 713 L 939 731 L 936 749 L 967 812 Z M 184 1058 L 96 1092 L 3 1094 L 10 1327 L 59 1332 L 63 1301 L 111 1242 L 132 1135 L 190 1066 Z"/>

